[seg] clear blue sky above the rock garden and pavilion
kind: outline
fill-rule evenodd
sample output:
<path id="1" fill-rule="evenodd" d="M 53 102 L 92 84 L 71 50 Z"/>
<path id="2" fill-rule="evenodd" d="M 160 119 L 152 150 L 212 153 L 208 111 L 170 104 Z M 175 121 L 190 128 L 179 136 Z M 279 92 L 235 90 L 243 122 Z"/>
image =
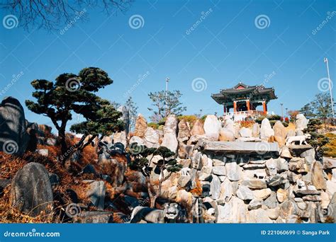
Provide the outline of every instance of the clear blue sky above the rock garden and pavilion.
<path id="1" fill-rule="evenodd" d="M 324 91 L 318 86 L 327 76 L 323 57 L 335 79 L 335 11 L 335 1 L 138 0 L 113 16 L 86 8 L 89 20 L 64 34 L 0 25 L 0 91 L 6 89 L 0 98 L 14 96 L 23 104 L 32 99 L 33 79 L 51 81 L 64 72 L 100 67 L 114 83 L 99 95 L 124 103 L 130 93 L 145 117 L 147 93 L 163 90 L 167 76 L 169 89 L 183 93 L 186 114 L 223 113 L 211 93 L 239 81 L 274 87 L 279 99 L 269 110 L 281 114 L 280 103 L 296 110 Z M 1 18 L 8 14 L 1 11 Z M 132 16 L 140 16 L 140 28 L 130 25 Z M 193 88 L 194 79 L 206 85 Z M 25 110 L 30 122 L 50 125 L 47 117 Z"/>

